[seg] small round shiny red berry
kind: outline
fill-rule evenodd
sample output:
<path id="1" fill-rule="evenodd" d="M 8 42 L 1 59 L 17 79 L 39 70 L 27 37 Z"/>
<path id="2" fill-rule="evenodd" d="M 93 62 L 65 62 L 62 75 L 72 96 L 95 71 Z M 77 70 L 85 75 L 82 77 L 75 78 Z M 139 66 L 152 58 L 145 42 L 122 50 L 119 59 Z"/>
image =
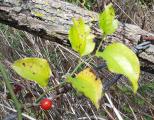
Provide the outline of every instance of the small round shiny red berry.
<path id="1" fill-rule="evenodd" d="M 52 107 L 52 101 L 48 98 L 44 98 L 40 101 L 40 107 L 43 110 L 49 110 Z"/>

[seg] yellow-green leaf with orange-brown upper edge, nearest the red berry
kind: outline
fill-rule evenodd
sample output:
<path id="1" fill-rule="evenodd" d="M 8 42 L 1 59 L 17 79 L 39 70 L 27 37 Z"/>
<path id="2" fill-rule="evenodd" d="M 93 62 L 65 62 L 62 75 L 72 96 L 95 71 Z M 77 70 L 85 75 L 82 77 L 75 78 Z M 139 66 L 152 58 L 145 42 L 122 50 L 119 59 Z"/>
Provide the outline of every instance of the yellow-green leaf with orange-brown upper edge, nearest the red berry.
<path id="1" fill-rule="evenodd" d="M 96 75 L 90 68 L 81 71 L 75 78 L 69 76 L 67 82 L 78 92 L 89 98 L 97 109 L 99 108 L 103 89 L 102 83 L 100 79 L 96 78 Z"/>

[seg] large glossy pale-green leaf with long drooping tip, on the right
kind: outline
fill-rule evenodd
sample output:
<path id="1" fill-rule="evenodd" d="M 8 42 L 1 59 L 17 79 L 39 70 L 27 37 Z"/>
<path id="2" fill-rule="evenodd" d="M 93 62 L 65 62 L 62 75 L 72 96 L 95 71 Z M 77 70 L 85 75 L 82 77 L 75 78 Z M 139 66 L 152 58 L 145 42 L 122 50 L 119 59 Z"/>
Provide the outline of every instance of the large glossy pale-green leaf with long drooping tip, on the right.
<path id="1" fill-rule="evenodd" d="M 103 52 L 97 52 L 97 57 L 102 57 L 107 62 L 111 72 L 123 74 L 133 86 L 136 93 L 140 75 L 140 63 L 136 54 L 122 43 L 112 43 Z"/>

